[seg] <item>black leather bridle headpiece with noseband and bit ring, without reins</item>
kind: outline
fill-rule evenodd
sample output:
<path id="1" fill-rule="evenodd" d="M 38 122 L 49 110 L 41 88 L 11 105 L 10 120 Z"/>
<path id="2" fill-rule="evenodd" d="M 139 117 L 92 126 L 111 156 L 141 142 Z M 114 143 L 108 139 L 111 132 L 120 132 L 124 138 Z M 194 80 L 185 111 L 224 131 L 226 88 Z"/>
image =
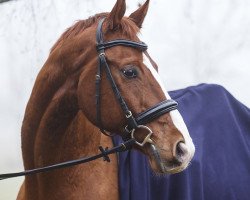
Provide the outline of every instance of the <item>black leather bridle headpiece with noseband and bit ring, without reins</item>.
<path id="1" fill-rule="evenodd" d="M 97 123 L 100 128 L 100 130 L 106 134 L 107 132 L 104 130 L 102 125 L 102 119 L 101 119 L 101 104 L 100 104 L 100 88 L 101 88 L 101 75 L 102 70 L 104 68 L 107 78 L 112 86 L 113 92 L 115 94 L 116 99 L 118 100 L 122 111 L 124 113 L 124 116 L 126 117 L 126 126 L 124 128 L 126 136 L 125 138 L 134 138 L 134 132 L 135 130 L 142 128 L 146 129 L 149 134 L 145 137 L 143 142 L 136 141 L 136 144 L 139 146 L 143 146 L 146 142 L 150 142 L 150 136 L 152 135 L 152 131 L 150 128 L 145 126 L 145 124 L 153 121 L 157 117 L 160 117 L 161 115 L 168 113 L 172 110 L 177 109 L 178 103 L 172 99 L 164 100 L 155 106 L 147 109 L 146 111 L 139 113 L 134 116 L 134 114 L 129 109 L 127 103 L 125 102 L 123 96 L 121 95 L 121 92 L 119 91 L 119 88 L 117 87 L 115 80 L 112 76 L 110 67 L 106 60 L 105 55 L 105 49 L 112 48 L 114 46 L 125 46 L 125 47 L 132 47 L 135 49 L 138 49 L 139 51 L 145 52 L 147 50 L 147 45 L 144 42 L 135 42 L 131 40 L 124 40 L 124 39 L 117 39 L 105 42 L 103 39 L 103 33 L 102 33 L 102 25 L 105 18 L 101 19 L 99 21 L 99 24 L 97 26 L 96 31 L 96 49 L 99 56 L 99 64 L 97 68 L 97 74 L 96 74 L 96 116 L 97 116 Z"/>

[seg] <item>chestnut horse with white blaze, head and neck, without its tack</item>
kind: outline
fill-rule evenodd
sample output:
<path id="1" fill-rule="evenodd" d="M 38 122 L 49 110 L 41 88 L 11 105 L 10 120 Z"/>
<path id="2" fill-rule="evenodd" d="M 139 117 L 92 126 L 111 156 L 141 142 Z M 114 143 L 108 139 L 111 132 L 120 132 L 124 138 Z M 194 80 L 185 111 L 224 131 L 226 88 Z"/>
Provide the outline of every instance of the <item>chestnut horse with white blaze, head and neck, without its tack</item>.
<path id="1" fill-rule="evenodd" d="M 96 31 L 105 41 L 123 39 L 139 43 L 137 34 L 148 10 L 149 0 L 124 17 L 125 0 L 117 0 L 110 13 L 78 21 L 53 46 L 39 72 L 26 107 L 22 126 L 25 169 L 43 167 L 98 153 L 98 146 L 113 146 L 100 129 L 122 135 L 126 117 L 110 81 L 103 73 L 100 86 L 100 127 L 96 112 L 96 74 L 99 56 Z M 116 45 L 105 51 L 113 79 L 131 113 L 136 116 L 170 99 L 147 52 Z M 149 139 L 160 157 L 155 159 L 149 143 L 134 148 L 146 154 L 156 173 L 184 170 L 194 154 L 194 145 L 177 110 L 148 122 Z M 134 133 L 141 141 L 147 130 Z M 148 140 L 148 142 L 149 142 Z M 25 177 L 18 200 L 119 199 L 116 155 L 111 163 L 101 159 Z"/>

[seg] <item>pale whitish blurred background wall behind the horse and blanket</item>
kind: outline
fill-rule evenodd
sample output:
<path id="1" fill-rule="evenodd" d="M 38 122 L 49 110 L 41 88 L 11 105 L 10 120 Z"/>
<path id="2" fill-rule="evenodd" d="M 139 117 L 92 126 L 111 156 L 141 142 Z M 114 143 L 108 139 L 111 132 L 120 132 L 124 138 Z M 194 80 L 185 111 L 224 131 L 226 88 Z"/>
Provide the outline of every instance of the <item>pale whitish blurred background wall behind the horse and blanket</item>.
<path id="1" fill-rule="evenodd" d="M 67 27 L 109 12 L 116 0 L 0 2 L 0 173 L 7 173 L 23 169 L 24 109 L 50 48 Z M 127 15 L 143 2 L 127 0 Z M 167 89 L 216 83 L 250 107 L 249 10 L 249 0 L 151 0 L 140 37 Z M 15 199 L 22 180 L 0 181 L 0 200 Z"/>

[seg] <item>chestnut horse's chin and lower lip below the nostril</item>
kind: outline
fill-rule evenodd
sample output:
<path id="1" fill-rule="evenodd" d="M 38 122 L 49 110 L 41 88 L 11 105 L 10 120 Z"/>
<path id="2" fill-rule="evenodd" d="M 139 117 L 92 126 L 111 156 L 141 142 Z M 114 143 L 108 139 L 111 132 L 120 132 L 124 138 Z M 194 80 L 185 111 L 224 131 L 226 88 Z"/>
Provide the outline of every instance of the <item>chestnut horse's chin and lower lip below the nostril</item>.
<path id="1" fill-rule="evenodd" d="M 154 145 L 150 145 L 150 153 L 148 155 L 152 170 L 159 175 L 176 174 L 185 170 L 189 165 L 189 162 L 182 162 L 179 165 L 175 165 L 162 159 L 159 151 Z"/>

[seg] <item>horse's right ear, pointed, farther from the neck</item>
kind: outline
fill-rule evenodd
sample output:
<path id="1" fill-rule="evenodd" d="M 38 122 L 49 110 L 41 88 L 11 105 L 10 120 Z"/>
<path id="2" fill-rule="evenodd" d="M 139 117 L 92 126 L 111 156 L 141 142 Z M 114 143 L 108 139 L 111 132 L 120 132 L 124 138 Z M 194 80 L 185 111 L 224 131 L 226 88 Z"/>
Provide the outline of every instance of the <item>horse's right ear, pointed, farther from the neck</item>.
<path id="1" fill-rule="evenodd" d="M 147 0 L 140 8 L 133 12 L 129 18 L 136 23 L 136 25 L 141 28 L 145 16 L 148 12 L 149 0 Z"/>

